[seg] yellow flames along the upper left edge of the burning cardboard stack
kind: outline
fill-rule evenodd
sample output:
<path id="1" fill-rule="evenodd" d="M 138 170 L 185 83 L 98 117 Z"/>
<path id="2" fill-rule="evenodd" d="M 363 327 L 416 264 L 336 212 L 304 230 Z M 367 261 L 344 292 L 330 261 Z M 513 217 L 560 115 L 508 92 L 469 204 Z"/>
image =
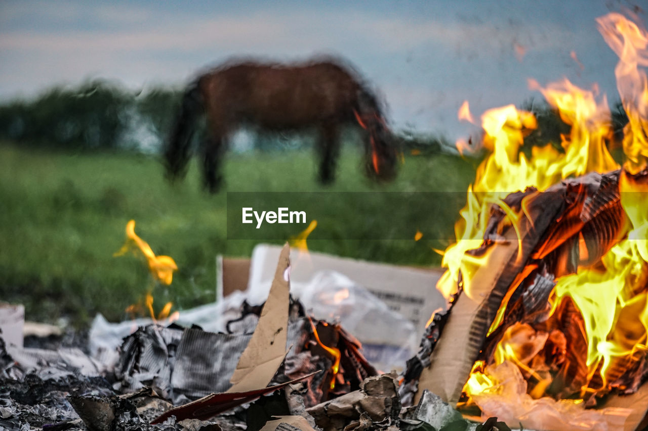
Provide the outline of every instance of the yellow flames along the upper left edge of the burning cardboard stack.
<path id="1" fill-rule="evenodd" d="M 527 159 L 520 151 L 524 134 L 537 127 L 533 113 L 507 105 L 481 116 L 483 146 L 491 153 L 481 162 L 475 181 L 469 186 L 467 204 L 455 226 L 457 243 L 446 249 L 443 257 L 442 265 L 448 271 L 437 283 L 437 289 L 446 298 L 457 291 L 459 272 L 463 274 L 463 288 L 472 298 L 470 280 L 487 255 L 475 258 L 466 252 L 481 245 L 492 204 L 502 208 L 516 229 L 520 215 L 514 214 L 502 200 L 509 193 L 530 186 L 546 190 L 572 175 L 618 168 L 605 146 L 610 135 L 605 97 L 597 103 L 594 91 L 580 89 L 568 80 L 550 84 L 546 89 L 535 81 L 530 85 L 539 89 L 548 103 L 559 109 L 562 120 L 572 126 L 570 135 L 562 137 L 564 153 L 546 145 L 532 148 L 531 158 Z"/>

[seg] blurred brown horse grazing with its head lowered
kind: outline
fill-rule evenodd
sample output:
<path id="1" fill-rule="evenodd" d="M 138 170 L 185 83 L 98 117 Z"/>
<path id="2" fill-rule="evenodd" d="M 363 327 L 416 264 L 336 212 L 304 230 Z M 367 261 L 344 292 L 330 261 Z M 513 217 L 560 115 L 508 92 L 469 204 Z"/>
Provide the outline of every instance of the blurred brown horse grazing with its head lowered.
<path id="1" fill-rule="evenodd" d="M 350 67 L 330 58 L 295 65 L 228 62 L 202 74 L 185 91 L 181 110 L 165 150 L 170 178 L 182 176 L 191 157 L 194 123 L 205 113 L 209 133 L 202 142 L 205 186 L 216 192 L 227 137 L 240 126 L 268 131 L 317 127 L 319 181 L 334 180 L 340 153 L 340 126 L 364 129 L 367 173 L 395 177 L 397 149 L 382 107 Z"/>

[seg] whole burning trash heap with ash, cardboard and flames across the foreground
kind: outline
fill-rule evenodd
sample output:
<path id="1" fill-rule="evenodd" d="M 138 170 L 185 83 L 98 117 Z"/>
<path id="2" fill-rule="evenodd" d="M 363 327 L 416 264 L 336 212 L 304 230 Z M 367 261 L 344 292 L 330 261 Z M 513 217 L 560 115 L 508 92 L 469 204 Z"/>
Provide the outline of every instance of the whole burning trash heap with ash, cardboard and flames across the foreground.
<path id="1" fill-rule="evenodd" d="M 259 252 L 272 256 L 268 291 L 255 283 L 259 271 L 252 267 L 253 289 L 231 293 L 216 305 L 218 313 L 206 307 L 180 316 L 170 302 L 156 313 L 154 287 L 170 285 L 178 266 L 156 256 L 129 221 L 126 245 L 115 255 L 141 253 L 152 283 L 126 311 L 150 320 L 120 325 L 102 346 L 91 340 L 90 354 L 5 345 L 0 338 L 0 426 L 605 431 L 645 425 L 648 78 L 640 67 L 648 66 L 648 32 L 619 14 L 597 23 L 620 58 L 616 77 L 629 117 L 625 162 L 619 165 L 608 150 L 610 112 L 596 87 L 529 81 L 570 126 L 560 149 L 534 147 L 530 156 L 522 149 L 537 128 L 533 113 L 513 105 L 485 112 L 482 146 L 489 153 L 468 190 L 457 242 L 443 252 L 447 270 L 437 288 L 446 307 L 408 293 L 415 290 L 410 285 L 370 291 L 332 272 L 298 287 L 301 269 L 284 245 L 277 256 L 270 248 Z M 458 116 L 475 122 L 468 102 Z M 319 259 L 307 254 L 316 226 L 312 221 L 292 239 L 308 265 Z M 422 236 L 417 229 L 415 241 Z M 420 316 L 395 313 L 390 300 L 421 305 L 412 309 L 427 311 L 422 322 L 430 318 L 416 328 L 412 321 Z M 213 326 L 181 326 L 191 315 Z M 100 318 L 95 326 L 110 333 Z M 418 329 L 413 354 L 409 336 Z M 403 352 L 412 354 L 400 375 L 381 371 Z"/>

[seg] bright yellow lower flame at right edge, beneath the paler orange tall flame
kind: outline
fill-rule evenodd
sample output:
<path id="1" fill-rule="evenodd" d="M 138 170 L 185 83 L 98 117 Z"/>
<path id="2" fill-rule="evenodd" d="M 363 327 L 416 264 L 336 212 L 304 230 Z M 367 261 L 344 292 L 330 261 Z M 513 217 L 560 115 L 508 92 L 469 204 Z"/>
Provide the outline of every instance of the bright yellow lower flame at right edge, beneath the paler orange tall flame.
<path id="1" fill-rule="evenodd" d="M 583 315 L 588 342 L 586 364 L 590 373 L 601 366 L 603 384 L 610 366 L 619 358 L 646 348 L 648 329 L 648 184 L 619 177 L 621 206 L 631 223 L 627 239 L 601 259 L 603 271 L 581 271 L 557 279 L 556 302 L 569 296 Z"/>

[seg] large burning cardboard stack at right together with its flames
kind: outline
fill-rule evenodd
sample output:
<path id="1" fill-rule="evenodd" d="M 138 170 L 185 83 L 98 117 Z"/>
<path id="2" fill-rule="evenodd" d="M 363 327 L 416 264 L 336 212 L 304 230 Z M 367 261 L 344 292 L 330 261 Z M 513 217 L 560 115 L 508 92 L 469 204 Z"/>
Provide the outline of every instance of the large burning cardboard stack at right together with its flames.
<path id="1" fill-rule="evenodd" d="M 542 428 L 601 424 L 605 416 L 609 429 L 632 429 L 645 414 L 645 403 L 628 410 L 614 400 L 639 391 L 648 375 L 648 78 L 640 69 L 648 65 L 648 32 L 619 14 L 597 23 L 621 60 L 627 160 L 619 170 L 608 152 L 610 113 L 596 89 L 530 82 L 571 126 L 562 152 L 533 148 L 529 159 L 520 151 L 536 127 L 531 113 L 507 106 L 482 116 L 483 145 L 492 153 L 469 189 L 438 284 L 452 308 L 432 319 L 432 340 L 423 339 L 405 373 L 404 388 L 418 398 L 430 389 Z M 555 421 L 543 422 L 548 417 Z"/>

